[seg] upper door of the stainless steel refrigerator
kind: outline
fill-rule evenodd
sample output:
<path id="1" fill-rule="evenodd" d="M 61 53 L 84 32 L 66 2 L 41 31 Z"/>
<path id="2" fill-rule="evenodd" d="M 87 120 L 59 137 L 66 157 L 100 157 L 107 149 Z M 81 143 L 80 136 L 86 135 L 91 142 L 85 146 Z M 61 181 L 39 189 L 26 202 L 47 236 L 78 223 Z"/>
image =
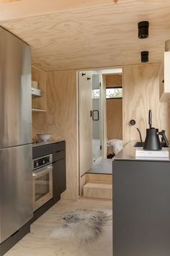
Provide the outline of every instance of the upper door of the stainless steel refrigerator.
<path id="1" fill-rule="evenodd" d="M 0 148 L 32 141 L 30 46 L 0 30 Z"/>

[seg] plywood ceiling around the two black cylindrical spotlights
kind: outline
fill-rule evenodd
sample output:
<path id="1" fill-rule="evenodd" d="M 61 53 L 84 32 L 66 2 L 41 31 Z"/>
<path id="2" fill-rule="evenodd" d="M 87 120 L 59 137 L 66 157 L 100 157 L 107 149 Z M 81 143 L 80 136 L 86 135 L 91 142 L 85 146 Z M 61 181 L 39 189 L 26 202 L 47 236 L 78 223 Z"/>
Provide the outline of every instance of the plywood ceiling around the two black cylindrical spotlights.
<path id="1" fill-rule="evenodd" d="M 140 51 L 149 51 L 152 63 L 161 61 L 164 42 L 170 39 L 169 0 L 119 0 L 116 4 L 106 0 L 105 6 L 101 3 L 65 7 L 62 12 L 53 9 L 48 14 L 43 9 L 43 14 L 34 12 L 31 17 L 28 13 L 29 17 L 12 20 L 6 20 L 4 12 L 0 24 L 29 43 L 32 63 L 47 71 L 139 64 Z M 19 2 L 16 4 L 18 7 Z M 142 20 L 150 22 L 149 38 L 140 40 L 138 22 Z"/>

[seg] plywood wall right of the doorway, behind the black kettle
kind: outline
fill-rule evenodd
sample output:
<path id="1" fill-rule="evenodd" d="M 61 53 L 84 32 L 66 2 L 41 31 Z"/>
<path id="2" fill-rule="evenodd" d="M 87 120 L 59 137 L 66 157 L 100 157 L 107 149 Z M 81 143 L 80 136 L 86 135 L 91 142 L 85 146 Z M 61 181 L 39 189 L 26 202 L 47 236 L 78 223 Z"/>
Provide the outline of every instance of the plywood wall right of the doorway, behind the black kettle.
<path id="1" fill-rule="evenodd" d="M 153 112 L 153 127 L 165 129 L 170 140 L 170 105 L 159 102 L 158 72 L 160 64 L 139 64 L 124 67 L 123 82 L 123 137 L 124 142 L 139 140 L 138 127 L 143 140 L 148 128 L 148 111 Z M 130 126 L 135 119 L 135 126 Z"/>

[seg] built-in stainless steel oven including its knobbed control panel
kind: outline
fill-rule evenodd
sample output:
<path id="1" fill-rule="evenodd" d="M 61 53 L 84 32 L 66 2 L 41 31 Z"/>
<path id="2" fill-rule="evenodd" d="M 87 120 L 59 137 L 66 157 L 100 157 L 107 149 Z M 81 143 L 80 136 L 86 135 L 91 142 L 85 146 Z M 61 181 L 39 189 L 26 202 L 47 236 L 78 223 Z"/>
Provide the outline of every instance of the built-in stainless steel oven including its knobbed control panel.
<path id="1" fill-rule="evenodd" d="M 33 210 L 53 198 L 53 165 L 52 155 L 45 155 L 33 160 Z"/>

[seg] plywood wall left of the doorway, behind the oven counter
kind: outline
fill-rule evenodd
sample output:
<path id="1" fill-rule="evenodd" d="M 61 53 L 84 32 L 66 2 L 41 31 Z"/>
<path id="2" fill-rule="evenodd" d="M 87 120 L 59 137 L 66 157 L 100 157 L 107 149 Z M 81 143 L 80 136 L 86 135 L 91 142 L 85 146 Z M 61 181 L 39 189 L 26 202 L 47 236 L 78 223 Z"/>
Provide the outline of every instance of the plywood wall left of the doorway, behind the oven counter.
<path id="1" fill-rule="evenodd" d="M 76 72 L 47 73 L 47 112 L 33 114 L 34 132 L 50 132 L 53 139 L 66 140 L 66 192 L 62 197 L 75 200 L 78 195 L 78 141 Z"/>

